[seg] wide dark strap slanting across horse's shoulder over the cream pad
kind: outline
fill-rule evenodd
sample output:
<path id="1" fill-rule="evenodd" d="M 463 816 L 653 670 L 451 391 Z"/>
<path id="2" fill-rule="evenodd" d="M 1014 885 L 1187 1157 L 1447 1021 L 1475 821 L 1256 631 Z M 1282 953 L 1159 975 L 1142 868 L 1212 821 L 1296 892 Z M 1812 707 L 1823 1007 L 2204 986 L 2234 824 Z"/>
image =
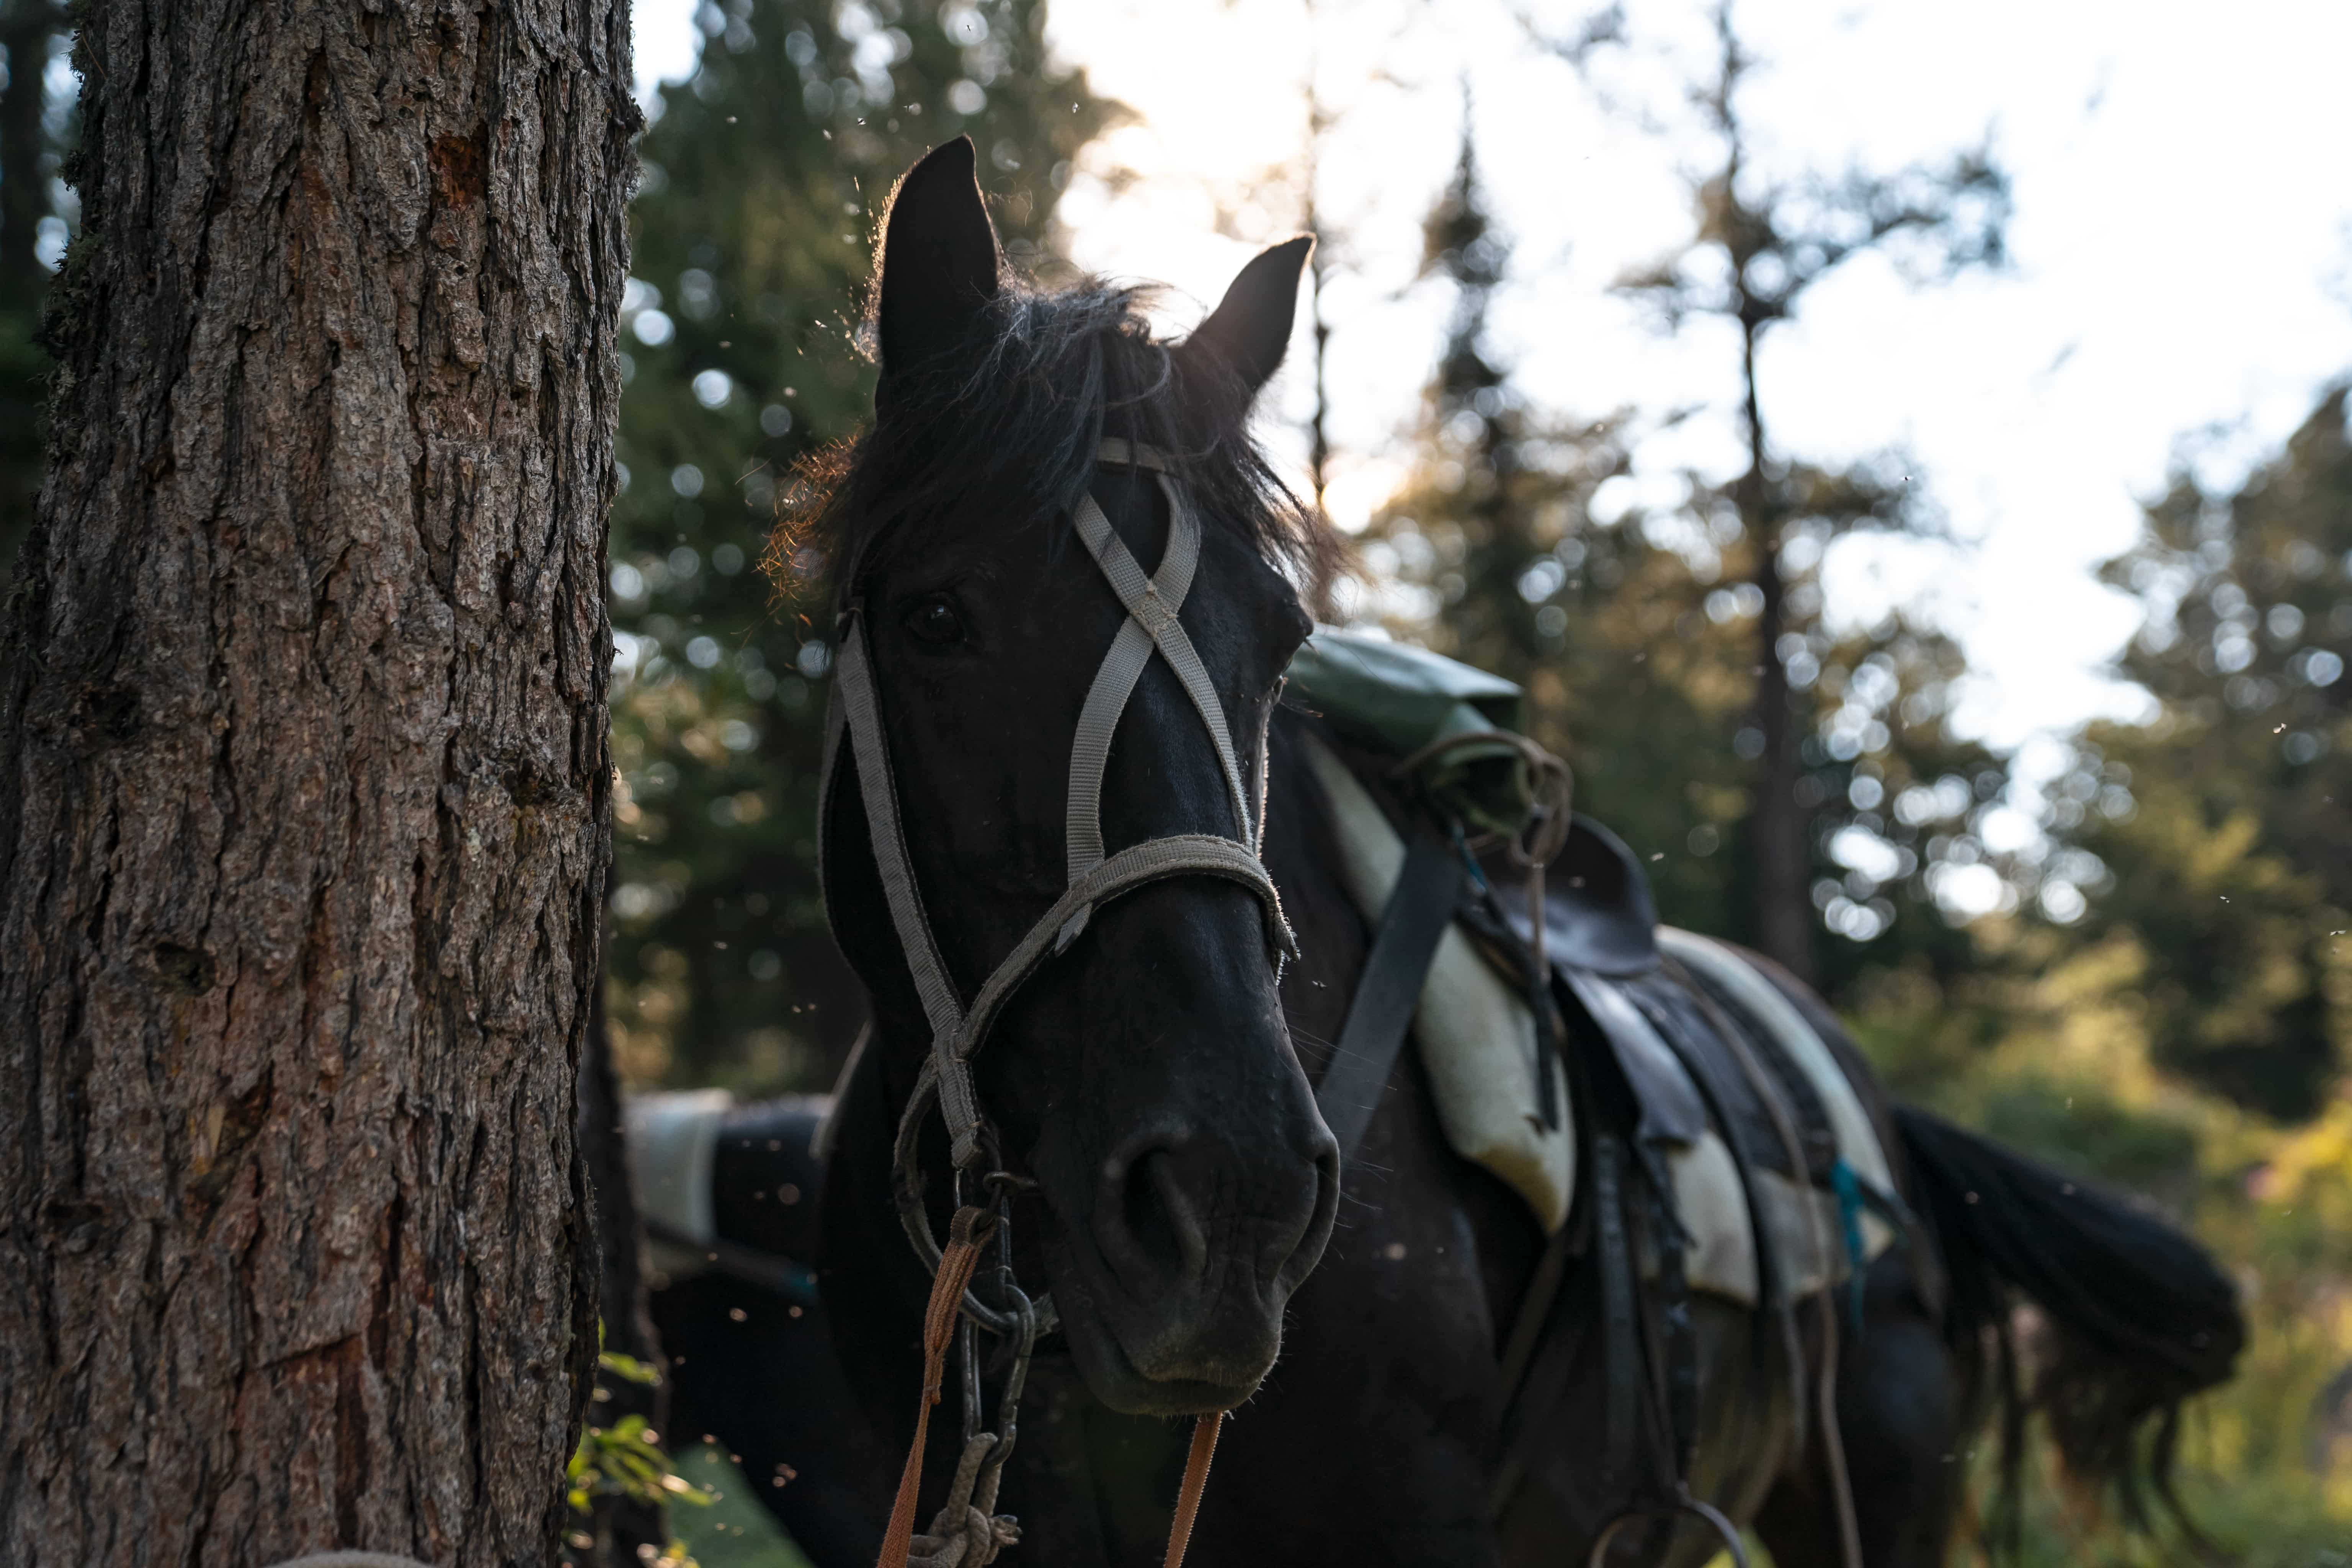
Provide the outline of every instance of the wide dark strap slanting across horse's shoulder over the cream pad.
<path id="1" fill-rule="evenodd" d="M 1451 844 L 1425 830 L 1411 837 L 1404 870 L 1388 891 L 1381 929 L 1371 938 L 1364 973 L 1348 1001 L 1348 1023 L 1341 1025 L 1331 1065 L 1315 1086 L 1315 1107 L 1338 1140 L 1341 1166 L 1355 1159 L 1364 1128 L 1371 1126 L 1371 1112 L 1388 1091 L 1388 1074 L 1421 1004 L 1421 983 L 1454 919 L 1461 879 L 1461 858 Z"/>

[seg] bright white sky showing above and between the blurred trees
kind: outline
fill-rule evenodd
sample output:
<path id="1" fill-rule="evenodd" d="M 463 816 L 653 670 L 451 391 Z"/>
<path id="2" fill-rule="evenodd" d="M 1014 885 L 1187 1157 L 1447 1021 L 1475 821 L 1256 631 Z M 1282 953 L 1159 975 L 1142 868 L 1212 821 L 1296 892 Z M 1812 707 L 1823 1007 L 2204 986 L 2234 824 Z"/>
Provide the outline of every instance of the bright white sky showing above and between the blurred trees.
<path id="1" fill-rule="evenodd" d="M 1214 303 L 1296 221 L 1308 66 L 1336 110 L 1327 223 L 1348 242 L 1327 313 L 1343 524 L 1395 484 L 1446 299 L 1411 287 L 1418 223 L 1451 172 L 1468 82 L 1512 282 L 1491 343 L 1559 414 L 1708 416 L 1639 449 L 1611 501 L 1663 501 L 1684 468 L 1729 475 L 1729 336 L 1663 339 L 1606 284 L 1689 223 L 1677 167 L 1703 150 L 1602 108 L 1529 45 L 1512 0 L 1056 0 L 1056 49 L 1141 113 L 1063 200 L 1073 256 Z M 1534 0 L 1559 31 L 1585 7 Z M 1635 0 L 1632 33 L 1703 42 L 1691 0 Z M 1863 261 L 1769 339 L 1766 425 L 1795 456 L 1900 447 L 1966 550 L 1856 545 L 1830 602 L 1926 604 L 1985 679 L 1962 724 L 1999 745 L 2129 710 L 2098 679 L 2133 614 L 2091 581 L 2131 543 L 2183 437 L 2230 480 L 2352 371 L 2352 155 L 2340 66 L 2352 7 L 2310 0 L 1750 0 L 1764 68 L 1745 101 L 1769 169 L 1891 172 L 1978 141 L 2016 181 L 2013 268 L 1912 289 Z M 691 71 L 689 0 L 637 5 L 640 78 Z M 1625 96 L 1677 115 L 1653 52 Z M 1105 174 L 1134 179 L 1115 188 Z M 1225 214 L 1221 223 L 1221 214 Z M 1223 233 L 1221 233 L 1223 228 Z M 1296 350 L 1303 350 L 1301 341 Z M 1279 400 L 1303 454 L 1294 353 Z"/>

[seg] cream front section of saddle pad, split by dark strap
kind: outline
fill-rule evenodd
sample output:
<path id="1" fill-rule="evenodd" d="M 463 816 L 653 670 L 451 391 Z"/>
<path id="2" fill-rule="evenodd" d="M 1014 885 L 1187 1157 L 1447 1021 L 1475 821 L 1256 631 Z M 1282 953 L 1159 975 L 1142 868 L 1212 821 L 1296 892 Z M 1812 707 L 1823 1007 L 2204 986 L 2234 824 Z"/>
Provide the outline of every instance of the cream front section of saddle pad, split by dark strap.
<path id="1" fill-rule="evenodd" d="M 1404 870 L 1404 839 L 1345 762 L 1312 736 L 1305 750 L 1331 802 L 1348 896 L 1378 924 Z M 1536 1016 L 1454 926 L 1437 940 L 1414 1039 L 1454 1152 L 1503 1178 L 1545 1234 L 1559 1229 L 1576 1194 L 1576 1119 L 1543 1126 L 1534 1105 Z"/>

